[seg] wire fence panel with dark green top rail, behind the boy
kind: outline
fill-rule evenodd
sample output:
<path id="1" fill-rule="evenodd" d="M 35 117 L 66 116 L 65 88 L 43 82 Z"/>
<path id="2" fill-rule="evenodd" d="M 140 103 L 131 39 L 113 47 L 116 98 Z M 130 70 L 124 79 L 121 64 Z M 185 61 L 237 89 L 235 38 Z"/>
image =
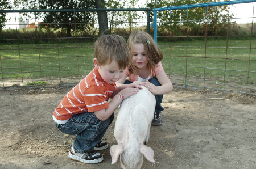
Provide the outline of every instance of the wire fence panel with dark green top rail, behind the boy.
<path id="1" fill-rule="evenodd" d="M 0 10 L 13 14 L 11 27 L 1 32 L 0 38 L 0 86 L 10 87 L 54 87 L 74 86 L 94 67 L 94 41 L 99 36 L 97 12 L 107 12 L 110 33 L 127 38 L 134 29 L 150 32 L 150 9 L 59 9 L 59 10 Z M 39 14 L 53 13 L 52 22 L 44 23 Z M 72 15 L 72 22 L 56 22 L 57 15 Z M 139 14 L 139 19 L 131 15 Z M 77 13 L 86 13 L 94 22 L 78 22 Z M 31 21 L 21 19 L 23 14 Z M 122 18 L 118 18 L 122 15 Z M 123 20 L 126 15 L 126 20 Z M 65 36 L 72 27 L 72 36 Z M 49 29 L 49 27 L 53 27 Z M 78 29 L 80 27 L 80 30 Z M 3 37 L 5 33 L 11 33 Z M 62 33 L 62 34 L 61 34 Z M 11 37 L 11 38 L 10 38 Z"/>

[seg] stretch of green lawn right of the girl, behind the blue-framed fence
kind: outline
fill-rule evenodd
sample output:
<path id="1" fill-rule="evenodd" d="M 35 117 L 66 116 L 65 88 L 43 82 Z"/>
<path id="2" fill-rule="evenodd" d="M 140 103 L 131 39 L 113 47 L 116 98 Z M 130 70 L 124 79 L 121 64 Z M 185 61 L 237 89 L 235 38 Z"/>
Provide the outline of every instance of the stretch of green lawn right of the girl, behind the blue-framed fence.
<path id="1" fill-rule="evenodd" d="M 207 48 L 205 41 L 199 40 L 159 42 L 166 73 L 216 79 L 225 75 L 225 80 L 255 84 L 256 39 L 228 40 L 228 48 L 226 40 L 207 40 L 206 44 Z"/>

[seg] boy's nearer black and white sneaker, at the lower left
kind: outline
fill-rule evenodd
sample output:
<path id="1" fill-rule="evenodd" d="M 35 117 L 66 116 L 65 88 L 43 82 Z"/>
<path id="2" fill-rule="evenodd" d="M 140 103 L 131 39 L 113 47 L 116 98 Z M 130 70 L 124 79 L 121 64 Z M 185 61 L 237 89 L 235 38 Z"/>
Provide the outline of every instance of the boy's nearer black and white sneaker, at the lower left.
<path id="1" fill-rule="evenodd" d="M 68 157 L 86 164 L 97 164 L 102 162 L 103 160 L 103 155 L 101 153 L 97 153 L 94 149 L 86 151 L 85 153 L 81 154 L 77 153 L 74 150 L 73 146 L 69 151 Z"/>

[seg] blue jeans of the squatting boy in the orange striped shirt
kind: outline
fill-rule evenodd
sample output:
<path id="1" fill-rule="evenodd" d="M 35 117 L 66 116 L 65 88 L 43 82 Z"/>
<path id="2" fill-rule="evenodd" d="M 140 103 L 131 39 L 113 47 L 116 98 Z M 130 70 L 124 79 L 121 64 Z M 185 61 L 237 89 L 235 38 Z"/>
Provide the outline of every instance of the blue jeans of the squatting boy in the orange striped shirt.
<path id="1" fill-rule="evenodd" d="M 94 112 L 85 112 L 72 116 L 65 124 L 56 123 L 56 129 L 65 134 L 77 134 L 73 148 L 77 153 L 85 153 L 94 149 L 101 141 L 113 120 L 114 113 L 109 119 L 101 121 L 94 115 Z"/>

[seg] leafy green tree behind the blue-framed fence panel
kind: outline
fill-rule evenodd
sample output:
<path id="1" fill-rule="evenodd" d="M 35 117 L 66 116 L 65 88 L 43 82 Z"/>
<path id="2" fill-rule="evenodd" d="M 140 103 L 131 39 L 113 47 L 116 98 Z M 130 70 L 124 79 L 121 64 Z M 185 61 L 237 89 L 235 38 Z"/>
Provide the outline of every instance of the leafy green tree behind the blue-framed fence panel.
<path id="1" fill-rule="evenodd" d="M 147 1 L 147 6 L 153 9 L 156 7 L 180 6 L 216 1 L 220 0 L 151 0 Z M 208 9 L 207 7 L 200 7 L 188 9 L 188 11 L 187 9 L 184 9 L 158 12 L 160 29 L 162 31 L 166 29 L 171 30 L 171 35 L 184 35 L 187 33 L 184 32 L 184 29 L 187 27 L 189 28 L 189 33 L 191 33 L 191 35 L 205 35 L 205 26 L 208 28 L 208 35 L 217 35 L 218 31 L 223 30 L 222 28 L 228 25 L 227 23 L 229 21 L 226 19 L 228 18 L 228 15 L 229 17 L 233 16 L 228 13 L 227 6 L 208 7 Z M 206 20 L 208 20 L 207 23 Z"/>

